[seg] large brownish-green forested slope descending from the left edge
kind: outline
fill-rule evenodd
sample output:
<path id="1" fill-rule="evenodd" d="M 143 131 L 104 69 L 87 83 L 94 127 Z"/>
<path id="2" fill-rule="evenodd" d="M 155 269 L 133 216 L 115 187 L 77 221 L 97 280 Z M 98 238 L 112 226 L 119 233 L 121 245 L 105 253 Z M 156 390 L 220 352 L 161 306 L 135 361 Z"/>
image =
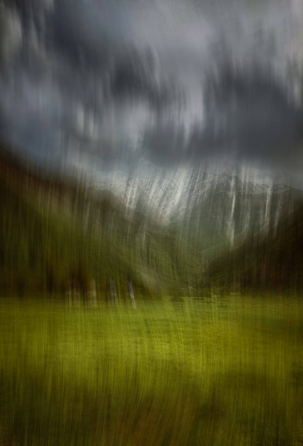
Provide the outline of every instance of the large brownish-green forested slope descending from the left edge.
<path id="1" fill-rule="evenodd" d="M 122 293 L 130 275 L 145 297 L 198 279 L 199 262 L 177 233 L 110 192 L 38 169 L 5 150 L 0 169 L 2 295 L 62 294 L 75 286 L 85 293 L 91 283 L 104 293 L 111 276 Z M 159 287 L 146 283 L 146 275 Z"/>

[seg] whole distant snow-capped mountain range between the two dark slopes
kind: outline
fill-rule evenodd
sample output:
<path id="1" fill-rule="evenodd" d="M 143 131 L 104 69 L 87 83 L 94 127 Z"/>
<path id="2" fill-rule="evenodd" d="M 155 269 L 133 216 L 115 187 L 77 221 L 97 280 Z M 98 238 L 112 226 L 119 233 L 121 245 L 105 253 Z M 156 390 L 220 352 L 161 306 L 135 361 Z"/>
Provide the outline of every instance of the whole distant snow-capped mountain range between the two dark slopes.
<path id="1" fill-rule="evenodd" d="M 285 184 L 257 184 L 227 173 L 200 172 L 185 178 L 129 178 L 118 184 L 89 182 L 110 190 L 125 206 L 164 223 L 224 227 L 233 239 L 253 226 L 274 226 L 303 202 L 303 192 Z"/>

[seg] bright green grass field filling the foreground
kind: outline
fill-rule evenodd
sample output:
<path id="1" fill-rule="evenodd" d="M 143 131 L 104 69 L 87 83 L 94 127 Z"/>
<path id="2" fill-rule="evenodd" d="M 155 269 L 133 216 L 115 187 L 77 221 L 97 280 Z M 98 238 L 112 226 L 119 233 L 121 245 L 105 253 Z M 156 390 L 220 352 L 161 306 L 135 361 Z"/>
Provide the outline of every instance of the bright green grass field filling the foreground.
<path id="1" fill-rule="evenodd" d="M 301 300 L 1 300 L 0 339 L 0 445 L 303 444 Z"/>

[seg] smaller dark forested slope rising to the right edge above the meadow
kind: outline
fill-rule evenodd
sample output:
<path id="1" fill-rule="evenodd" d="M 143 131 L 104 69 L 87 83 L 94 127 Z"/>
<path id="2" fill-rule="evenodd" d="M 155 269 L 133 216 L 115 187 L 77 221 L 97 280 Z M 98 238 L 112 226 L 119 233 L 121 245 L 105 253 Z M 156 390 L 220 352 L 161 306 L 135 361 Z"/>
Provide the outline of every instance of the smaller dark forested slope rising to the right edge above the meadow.
<path id="1" fill-rule="evenodd" d="M 209 268 L 202 283 L 242 293 L 303 295 L 303 206 L 266 234 L 229 250 Z"/>

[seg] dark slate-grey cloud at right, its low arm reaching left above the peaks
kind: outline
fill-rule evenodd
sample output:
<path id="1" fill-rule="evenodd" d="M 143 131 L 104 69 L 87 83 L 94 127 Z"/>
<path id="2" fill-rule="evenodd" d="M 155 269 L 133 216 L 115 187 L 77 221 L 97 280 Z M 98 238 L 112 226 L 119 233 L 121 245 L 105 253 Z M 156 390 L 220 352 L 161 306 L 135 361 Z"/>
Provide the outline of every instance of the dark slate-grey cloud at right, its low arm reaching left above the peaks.
<path id="1" fill-rule="evenodd" d="M 243 73 L 225 66 L 219 76 L 208 73 L 203 84 L 203 126 L 194 125 L 187 136 L 184 127 L 173 124 L 147 129 L 144 146 L 149 159 L 177 165 L 225 157 L 302 169 L 302 106 L 294 103 L 270 72 L 253 68 Z"/>

